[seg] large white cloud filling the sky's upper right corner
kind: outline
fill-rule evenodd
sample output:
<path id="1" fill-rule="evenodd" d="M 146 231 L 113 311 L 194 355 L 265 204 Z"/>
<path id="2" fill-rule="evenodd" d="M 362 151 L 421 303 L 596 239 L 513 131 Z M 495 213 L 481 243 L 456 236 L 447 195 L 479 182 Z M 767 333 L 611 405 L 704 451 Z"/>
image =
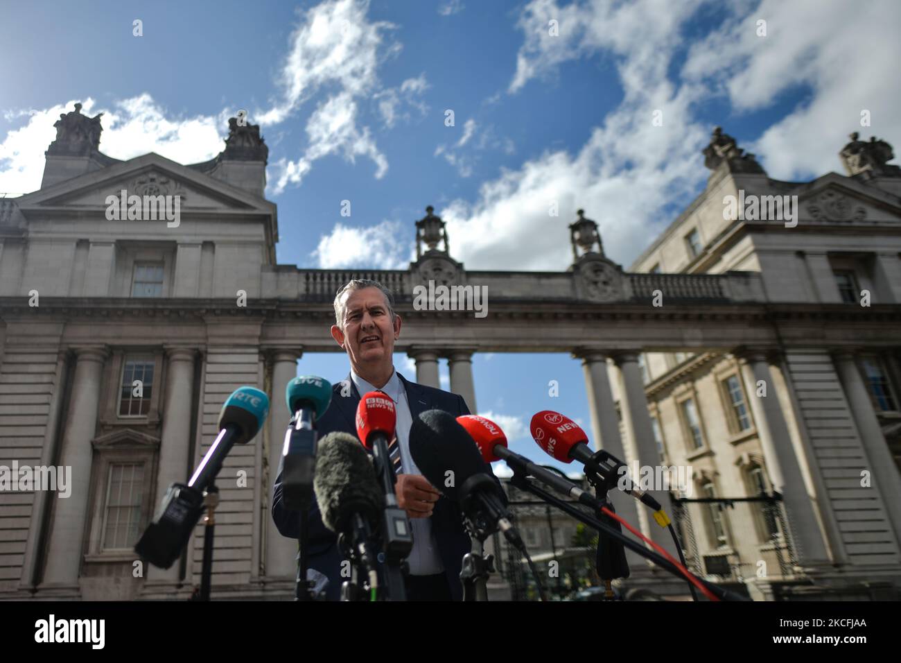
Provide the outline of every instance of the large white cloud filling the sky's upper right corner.
<path id="1" fill-rule="evenodd" d="M 757 35 L 760 19 L 767 21 L 765 37 Z M 808 87 L 805 103 L 742 146 L 777 179 L 842 171 L 837 153 L 851 131 L 901 141 L 901 86 L 889 82 L 901 60 L 899 24 L 901 4 L 894 0 L 765 0 L 694 45 L 683 76 L 720 91 L 739 111 L 766 108 L 779 95 Z M 871 128 L 860 127 L 864 109 Z"/>

